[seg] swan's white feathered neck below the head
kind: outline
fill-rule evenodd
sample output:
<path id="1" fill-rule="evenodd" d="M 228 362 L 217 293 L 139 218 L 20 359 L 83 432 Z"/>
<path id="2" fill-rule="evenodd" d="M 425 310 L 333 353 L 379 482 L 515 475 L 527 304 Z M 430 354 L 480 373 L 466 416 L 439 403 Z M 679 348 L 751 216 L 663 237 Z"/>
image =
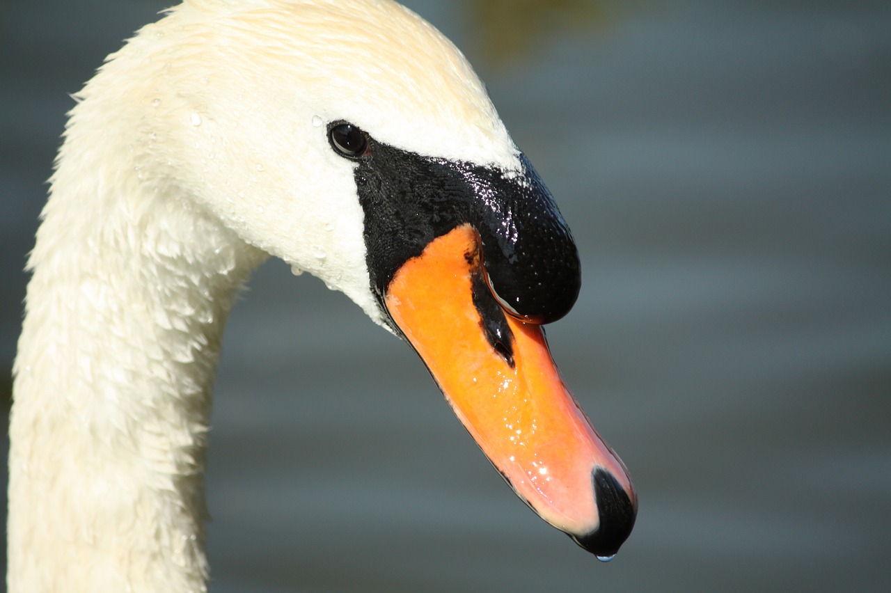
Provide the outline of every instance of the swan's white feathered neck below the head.
<path id="1" fill-rule="evenodd" d="M 233 297 L 265 256 L 144 183 L 105 134 L 79 132 L 29 260 L 9 590 L 205 590 L 213 372 Z"/>

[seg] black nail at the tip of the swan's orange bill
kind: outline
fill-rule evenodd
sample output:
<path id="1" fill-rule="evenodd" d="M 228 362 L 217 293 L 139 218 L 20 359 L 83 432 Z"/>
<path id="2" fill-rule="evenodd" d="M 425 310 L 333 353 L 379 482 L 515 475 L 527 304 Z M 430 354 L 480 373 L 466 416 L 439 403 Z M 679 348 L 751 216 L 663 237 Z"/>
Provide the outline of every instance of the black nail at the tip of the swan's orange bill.
<path id="1" fill-rule="evenodd" d="M 592 477 L 600 524 L 593 532 L 584 535 L 570 533 L 569 537 L 598 559 L 608 561 L 616 556 L 618 548 L 631 535 L 637 518 L 637 506 L 614 475 L 596 468 Z"/>

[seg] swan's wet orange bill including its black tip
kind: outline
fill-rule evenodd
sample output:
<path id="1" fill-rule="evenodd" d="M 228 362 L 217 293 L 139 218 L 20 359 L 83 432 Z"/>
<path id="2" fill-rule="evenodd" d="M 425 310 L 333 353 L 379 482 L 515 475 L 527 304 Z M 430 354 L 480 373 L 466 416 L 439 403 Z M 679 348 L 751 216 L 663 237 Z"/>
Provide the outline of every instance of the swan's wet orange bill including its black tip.
<path id="1" fill-rule="evenodd" d="M 634 526 L 634 485 L 563 385 L 542 329 L 504 314 L 485 278 L 478 233 L 464 224 L 403 264 L 384 303 L 520 499 L 609 559 Z M 486 330 L 492 314 L 503 331 Z"/>

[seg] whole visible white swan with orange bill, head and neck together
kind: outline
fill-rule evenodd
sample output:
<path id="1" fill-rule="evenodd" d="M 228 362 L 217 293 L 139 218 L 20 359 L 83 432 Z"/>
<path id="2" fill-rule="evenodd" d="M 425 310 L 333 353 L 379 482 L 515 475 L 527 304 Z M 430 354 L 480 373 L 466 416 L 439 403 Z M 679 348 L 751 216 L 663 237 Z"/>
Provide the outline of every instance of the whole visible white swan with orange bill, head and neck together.
<path id="1" fill-rule="evenodd" d="M 637 496 L 541 324 L 579 264 L 462 54 L 388 0 L 186 0 L 78 93 L 14 367 L 10 591 L 202 591 L 226 317 L 269 256 L 402 337 L 519 497 L 607 558 Z"/>

